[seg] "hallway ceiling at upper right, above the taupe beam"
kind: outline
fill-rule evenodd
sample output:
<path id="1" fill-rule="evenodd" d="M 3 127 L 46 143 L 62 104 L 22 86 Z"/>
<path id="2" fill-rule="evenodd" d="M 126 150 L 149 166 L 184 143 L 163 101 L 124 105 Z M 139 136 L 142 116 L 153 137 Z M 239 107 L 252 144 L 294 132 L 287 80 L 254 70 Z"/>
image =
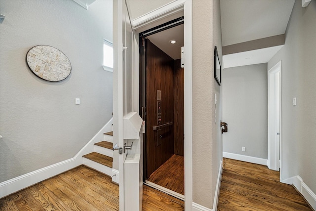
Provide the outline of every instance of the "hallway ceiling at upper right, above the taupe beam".
<path id="1" fill-rule="evenodd" d="M 223 46 L 282 35 L 295 0 L 221 0 Z"/>

